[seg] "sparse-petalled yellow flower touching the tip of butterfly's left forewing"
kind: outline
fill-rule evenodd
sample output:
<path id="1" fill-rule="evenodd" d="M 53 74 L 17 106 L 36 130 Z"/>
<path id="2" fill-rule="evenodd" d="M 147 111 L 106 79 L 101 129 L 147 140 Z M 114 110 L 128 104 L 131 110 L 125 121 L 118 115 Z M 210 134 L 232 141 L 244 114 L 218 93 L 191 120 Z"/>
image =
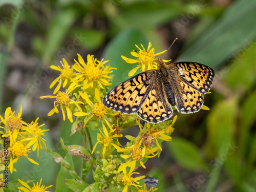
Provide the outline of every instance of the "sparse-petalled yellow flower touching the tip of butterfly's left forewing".
<path id="1" fill-rule="evenodd" d="M 102 119 L 104 119 L 104 121 L 108 124 L 108 126 L 110 127 L 111 131 L 114 132 L 114 130 L 112 129 L 112 127 L 109 124 L 109 121 L 106 120 L 104 118 L 104 116 L 106 114 L 110 114 L 110 115 L 116 115 L 117 113 L 109 113 L 110 108 L 106 108 L 103 103 L 101 102 L 100 99 L 100 95 L 99 95 L 99 90 L 97 88 L 95 88 L 95 100 L 97 101 L 97 103 L 93 104 L 93 102 L 89 99 L 88 95 L 86 92 L 80 92 L 79 91 L 80 96 L 91 106 L 92 110 L 91 113 L 86 113 L 86 112 L 76 112 L 74 113 L 75 116 L 77 117 L 82 117 L 82 116 L 86 116 L 86 115 L 91 115 L 87 121 L 84 123 L 83 127 L 86 126 L 86 124 L 88 123 L 88 121 L 93 118 L 93 117 L 97 117 L 98 120 L 100 120 L 102 122 Z"/>

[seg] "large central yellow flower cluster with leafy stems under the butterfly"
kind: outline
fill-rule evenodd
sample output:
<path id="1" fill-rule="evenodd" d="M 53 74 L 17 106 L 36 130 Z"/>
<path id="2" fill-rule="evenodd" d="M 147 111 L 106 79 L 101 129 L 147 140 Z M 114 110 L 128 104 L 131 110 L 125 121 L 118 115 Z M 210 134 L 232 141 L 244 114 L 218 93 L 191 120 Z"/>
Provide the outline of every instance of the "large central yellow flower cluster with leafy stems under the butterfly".
<path id="1" fill-rule="evenodd" d="M 133 69 L 129 76 L 134 75 L 139 68 L 142 72 L 156 69 L 155 56 L 165 52 L 155 54 L 151 43 L 147 50 L 143 46 L 142 49 L 136 47 L 139 52 L 132 52 L 132 55 L 137 59 L 122 56 L 128 63 L 139 62 L 139 66 Z M 136 166 L 146 168 L 144 164 L 146 160 L 156 157 L 162 150 L 161 142 L 172 140 L 169 135 L 173 132 L 177 116 L 173 120 L 157 125 L 145 123 L 142 128 L 136 115 L 114 112 L 101 102 L 101 98 L 110 90 L 112 77 L 109 74 L 115 69 L 105 65 L 108 61 L 97 60 L 93 55 L 88 55 L 87 61 L 84 61 L 79 54 L 78 61 L 74 61 L 73 66 L 68 65 L 65 59 L 63 63 L 61 62 L 62 68 L 51 66 L 52 69 L 59 71 L 60 75 L 50 86 L 50 88 L 56 86 L 53 92 L 55 95 L 40 97 L 56 99 L 54 108 L 48 116 L 59 113 L 60 108 L 63 120 L 66 119 L 66 114 L 70 122 L 73 122 L 73 116 L 76 117 L 73 124 L 79 124 L 76 127 L 84 137 L 84 146 L 90 154 L 93 154 L 88 158 L 90 161 L 88 160 L 87 164 L 91 163 L 91 166 L 95 167 L 93 176 L 98 186 L 101 185 L 103 188 L 105 183 L 113 184 L 117 190 L 123 192 L 133 187 L 145 192 L 157 190 L 156 188 L 146 189 L 144 185 L 140 185 L 139 180 L 145 176 L 133 177 L 134 174 L 139 174 L 134 170 Z M 65 90 L 61 91 L 61 86 Z M 123 136 L 121 132 L 135 124 L 140 127 L 139 135 L 137 137 L 126 135 L 130 142 L 122 146 L 118 141 Z M 91 130 L 99 130 L 94 146 Z M 32 140 L 31 143 L 33 143 Z M 98 157 L 95 152 L 99 154 Z M 80 151 L 80 153 L 83 152 Z M 83 155 L 90 156 L 86 153 Z"/>

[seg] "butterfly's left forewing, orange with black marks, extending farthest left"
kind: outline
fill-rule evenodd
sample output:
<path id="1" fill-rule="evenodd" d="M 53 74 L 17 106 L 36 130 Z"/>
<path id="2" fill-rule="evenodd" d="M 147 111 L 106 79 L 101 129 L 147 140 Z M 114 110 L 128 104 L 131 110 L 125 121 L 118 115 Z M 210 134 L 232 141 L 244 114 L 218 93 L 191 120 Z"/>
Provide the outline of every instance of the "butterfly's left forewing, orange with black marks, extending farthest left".
<path id="1" fill-rule="evenodd" d="M 102 99 L 107 107 L 121 113 L 136 113 L 152 88 L 157 70 L 140 73 L 114 87 Z"/>

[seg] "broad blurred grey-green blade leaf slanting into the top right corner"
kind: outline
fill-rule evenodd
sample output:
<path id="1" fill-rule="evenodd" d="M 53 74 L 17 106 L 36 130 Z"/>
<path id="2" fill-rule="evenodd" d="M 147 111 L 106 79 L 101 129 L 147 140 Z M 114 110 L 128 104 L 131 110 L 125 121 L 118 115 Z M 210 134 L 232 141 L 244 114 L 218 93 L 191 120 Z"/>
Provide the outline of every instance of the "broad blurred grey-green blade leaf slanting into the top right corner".
<path id="1" fill-rule="evenodd" d="M 178 60 L 200 62 L 217 68 L 232 53 L 256 37 L 255 9 L 256 1 L 234 2 L 214 24 L 198 36 Z"/>

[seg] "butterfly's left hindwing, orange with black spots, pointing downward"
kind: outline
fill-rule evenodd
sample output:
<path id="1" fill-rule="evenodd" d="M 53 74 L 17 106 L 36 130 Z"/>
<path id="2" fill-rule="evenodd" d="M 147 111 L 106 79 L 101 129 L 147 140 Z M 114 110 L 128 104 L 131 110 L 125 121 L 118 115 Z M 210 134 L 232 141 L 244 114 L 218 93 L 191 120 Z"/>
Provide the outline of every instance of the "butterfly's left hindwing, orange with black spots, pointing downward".
<path id="1" fill-rule="evenodd" d="M 141 119 L 151 123 L 159 123 L 173 116 L 173 109 L 167 100 L 161 78 L 156 78 L 138 115 Z"/>

